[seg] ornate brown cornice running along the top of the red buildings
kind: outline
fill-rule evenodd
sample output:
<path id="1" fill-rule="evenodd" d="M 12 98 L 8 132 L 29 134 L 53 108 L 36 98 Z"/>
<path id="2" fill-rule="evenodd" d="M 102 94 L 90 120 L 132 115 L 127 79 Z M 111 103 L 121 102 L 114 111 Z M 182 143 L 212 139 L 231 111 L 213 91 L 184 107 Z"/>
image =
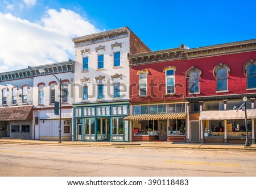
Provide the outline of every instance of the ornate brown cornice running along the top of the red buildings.
<path id="1" fill-rule="evenodd" d="M 234 43 L 210 45 L 208 47 L 187 49 L 184 44 L 179 48 L 164 49 L 146 53 L 127 54 L 130 66 L 151 64 L 155 62 L 172 61 L 172 60 L 189 60 L 202 57 L 212 57 L 228 55 L 232 53 L 242 53 L 256 51 L 256 39 L 238 41 Z"/>

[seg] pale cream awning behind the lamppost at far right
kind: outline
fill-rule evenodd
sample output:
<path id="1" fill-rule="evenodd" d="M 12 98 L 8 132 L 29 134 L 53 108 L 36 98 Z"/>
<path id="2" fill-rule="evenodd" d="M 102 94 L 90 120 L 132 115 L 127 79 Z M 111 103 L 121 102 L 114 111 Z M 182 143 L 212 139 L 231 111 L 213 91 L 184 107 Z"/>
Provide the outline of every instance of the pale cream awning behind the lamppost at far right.
<path id="1" fill-rule="evenodd" d="M 256 109 L 246 110 L 247 119 L 256 119 Z M 245 119 L 245 111 L 239 110 L 209 110 L 201 111 L 199 120 Z"/>

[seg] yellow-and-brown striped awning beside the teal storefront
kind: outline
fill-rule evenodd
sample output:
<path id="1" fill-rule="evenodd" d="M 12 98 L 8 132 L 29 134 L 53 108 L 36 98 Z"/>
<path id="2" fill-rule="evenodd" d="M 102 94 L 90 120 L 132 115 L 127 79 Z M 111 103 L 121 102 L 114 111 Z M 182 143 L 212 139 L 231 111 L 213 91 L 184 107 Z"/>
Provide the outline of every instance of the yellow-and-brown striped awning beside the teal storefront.
<path id="1" fill-rule="evenodd" d="M 140 114 L 129 115 L 125 120 L 138 121 L 138 120 L 162 120 L 162 119 L 185 119 L 186 113 L 179 114 Z"/>

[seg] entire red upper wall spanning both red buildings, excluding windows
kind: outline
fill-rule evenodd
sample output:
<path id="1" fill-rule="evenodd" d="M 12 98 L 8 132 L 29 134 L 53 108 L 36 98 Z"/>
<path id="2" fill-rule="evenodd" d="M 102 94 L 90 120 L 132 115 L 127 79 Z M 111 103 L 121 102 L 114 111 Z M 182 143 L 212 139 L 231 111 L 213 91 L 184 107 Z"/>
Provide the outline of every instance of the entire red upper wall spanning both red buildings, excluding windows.
<path id="1" fill-rule="evenodd" d="M 256 52 L 234 53 L 230 55 L 204 57 L 192 60 L 176 60 L 167 62 L 157 62 L 145 65 L 137 65 L 130 68 L 130 100 L 131 102 L 148 102 L 182 100 L 188 95 L 188 79 L 185 73 L 191 66 L 197 66 L 201 69 L 200 94 L 199 97 L 209 95 L 227 95 L 255 93 L 256 90 L 246 91 L 246 75 L 243 73 L 243 65 L 250 59 L 256 59 Z M 228 90 L 226 93 L 216 93 L 216 78 L 213 76 L 213 69 L 220 62 L 230 67 L 228 76 Z M 175 95 L 166 95 L 166 80 L 163 69 L 167 66 L 175 66 Z M 148 97 L 139 98 L 138 70 L 147 69 L 147 92 Z"/>

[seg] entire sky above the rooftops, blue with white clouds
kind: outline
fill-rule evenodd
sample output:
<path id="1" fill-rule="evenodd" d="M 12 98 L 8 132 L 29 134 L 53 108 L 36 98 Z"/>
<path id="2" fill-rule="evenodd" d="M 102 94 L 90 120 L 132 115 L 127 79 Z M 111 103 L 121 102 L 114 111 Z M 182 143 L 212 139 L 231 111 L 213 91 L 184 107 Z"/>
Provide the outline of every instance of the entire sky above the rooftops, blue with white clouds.
<path id="1" fill-rule="evenodd" d="M 129 27 L 152 51 L 256 39 L 256 2 L 0 0 L 0 72 L 74 59 L 73 37 Z"/>

